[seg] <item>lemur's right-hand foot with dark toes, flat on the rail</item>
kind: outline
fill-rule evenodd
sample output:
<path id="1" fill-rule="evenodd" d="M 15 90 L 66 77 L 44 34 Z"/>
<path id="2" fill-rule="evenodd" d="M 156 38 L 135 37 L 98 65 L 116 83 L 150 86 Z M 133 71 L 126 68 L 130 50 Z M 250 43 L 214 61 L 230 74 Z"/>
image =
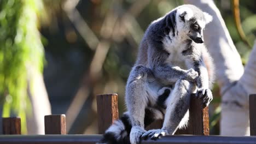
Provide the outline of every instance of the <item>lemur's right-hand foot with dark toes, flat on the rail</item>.
<path id="1" fill-rule="evenodd" d="M 166 130 L 162 130 L 162 129 L 152 129 L 147 131 L 146 133 L 144 133 L 141 137 L 142 140 L 147 140 L 149 137 L 151 140 L 157 140 L 160 139 L 161 136 L 165 136 L 167 135 L 167 131 Z"/>

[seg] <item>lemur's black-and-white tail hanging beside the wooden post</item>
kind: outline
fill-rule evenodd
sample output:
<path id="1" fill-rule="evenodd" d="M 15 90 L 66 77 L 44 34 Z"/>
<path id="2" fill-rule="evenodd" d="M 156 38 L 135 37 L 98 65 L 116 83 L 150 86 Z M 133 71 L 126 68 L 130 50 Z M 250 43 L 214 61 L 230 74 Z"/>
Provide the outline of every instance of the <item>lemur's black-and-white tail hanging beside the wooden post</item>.
<path id="1" fill-rule="evenodd" d="M 108 144 L 130 144 L 131 121 L 127 113 L 115 121 L 105 132 L 103 138 L 98 142 Z"/>

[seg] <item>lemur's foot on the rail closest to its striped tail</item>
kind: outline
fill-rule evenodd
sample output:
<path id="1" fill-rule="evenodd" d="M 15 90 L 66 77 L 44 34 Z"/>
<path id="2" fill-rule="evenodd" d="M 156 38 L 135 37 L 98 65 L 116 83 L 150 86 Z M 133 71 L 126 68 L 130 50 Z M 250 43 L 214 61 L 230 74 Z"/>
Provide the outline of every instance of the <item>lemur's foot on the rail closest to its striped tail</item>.
<path id="1" fill-rule="evenodd" d="M 130 133 L 130 142 L 131 144 L 138 144 L 141 142 L 141 136 L 146 133 L 147 131 L 144 130 L 142 127 L 134 126 L 131 129 Z"/>

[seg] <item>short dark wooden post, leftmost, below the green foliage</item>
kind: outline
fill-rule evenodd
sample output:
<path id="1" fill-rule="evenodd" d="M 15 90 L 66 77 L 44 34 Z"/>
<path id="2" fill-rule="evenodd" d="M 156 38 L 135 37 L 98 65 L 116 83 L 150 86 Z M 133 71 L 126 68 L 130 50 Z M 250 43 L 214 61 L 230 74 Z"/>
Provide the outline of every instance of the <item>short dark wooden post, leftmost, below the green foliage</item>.
<path id="1" fill-rule="evenodd" d="M 20 135 L 21 125 L 19 117 L 3 118 L 3 134 L 4 135 Z"/>

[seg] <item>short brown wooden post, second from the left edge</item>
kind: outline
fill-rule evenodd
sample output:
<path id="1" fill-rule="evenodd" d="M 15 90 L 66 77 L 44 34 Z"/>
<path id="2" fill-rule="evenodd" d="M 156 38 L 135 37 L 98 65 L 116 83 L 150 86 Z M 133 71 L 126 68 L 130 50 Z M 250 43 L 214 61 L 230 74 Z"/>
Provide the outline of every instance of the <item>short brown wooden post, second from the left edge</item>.
<path id="1" fill-rule="evenodd" d="M 66 116 L 63 114 L 44 116 L 44 131 L 46 135 L 65 135 Z"/>

